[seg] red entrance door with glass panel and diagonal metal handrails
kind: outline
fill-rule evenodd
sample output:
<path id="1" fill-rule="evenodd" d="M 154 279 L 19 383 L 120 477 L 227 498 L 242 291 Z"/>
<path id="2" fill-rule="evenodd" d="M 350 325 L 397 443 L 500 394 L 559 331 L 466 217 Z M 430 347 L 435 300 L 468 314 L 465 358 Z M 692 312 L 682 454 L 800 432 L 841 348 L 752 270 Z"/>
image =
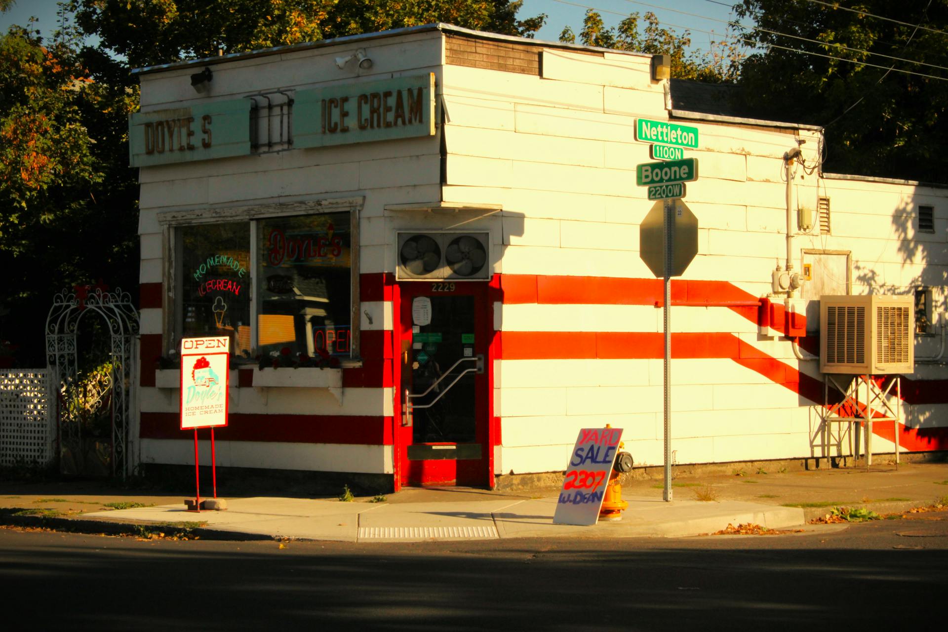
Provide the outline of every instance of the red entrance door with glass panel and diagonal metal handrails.
<path id="1" fill-rule="evenodd" d="M 401 482 L 487 485 L 487 283 L 399 284 Z"/>

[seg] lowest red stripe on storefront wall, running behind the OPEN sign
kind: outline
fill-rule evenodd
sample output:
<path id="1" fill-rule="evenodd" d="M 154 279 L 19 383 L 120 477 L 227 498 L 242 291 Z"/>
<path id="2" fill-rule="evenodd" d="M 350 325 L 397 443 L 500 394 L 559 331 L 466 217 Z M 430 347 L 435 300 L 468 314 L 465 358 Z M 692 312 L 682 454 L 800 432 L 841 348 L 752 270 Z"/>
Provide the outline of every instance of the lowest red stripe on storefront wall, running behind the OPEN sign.
<path id="1" fill-rule="evenodd" d="M 142 412 L 144 439 L 190 439 L 173 412 Z M 345 443 L 391 445 L 392 418 L 343 415 L 267 415 L 231 413 L 214 439 L 238 442 Z"/>

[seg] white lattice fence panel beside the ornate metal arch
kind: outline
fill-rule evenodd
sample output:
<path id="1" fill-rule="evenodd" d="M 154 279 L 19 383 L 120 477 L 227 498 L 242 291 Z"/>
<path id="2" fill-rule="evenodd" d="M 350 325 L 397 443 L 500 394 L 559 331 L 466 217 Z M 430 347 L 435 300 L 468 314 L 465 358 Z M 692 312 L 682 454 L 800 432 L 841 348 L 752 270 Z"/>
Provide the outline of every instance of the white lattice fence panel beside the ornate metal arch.
<path id="1" fill-rule="evenodd" d="M 0 465 L 53 459 L 48 375 L 46 369 L 0 371 Z"/>

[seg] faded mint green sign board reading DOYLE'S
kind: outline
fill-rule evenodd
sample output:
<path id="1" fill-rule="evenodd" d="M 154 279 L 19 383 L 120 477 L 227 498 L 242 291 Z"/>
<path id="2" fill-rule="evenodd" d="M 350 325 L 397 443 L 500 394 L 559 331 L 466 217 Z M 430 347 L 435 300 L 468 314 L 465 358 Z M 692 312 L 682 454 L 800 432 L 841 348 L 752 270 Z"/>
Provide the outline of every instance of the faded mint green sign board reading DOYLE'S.
<path id="1" fill-rule="evenodd" d="M 151 167 L 250 153 L 250 99 L 137 112 L 128 120 L 129 164 Z"/>

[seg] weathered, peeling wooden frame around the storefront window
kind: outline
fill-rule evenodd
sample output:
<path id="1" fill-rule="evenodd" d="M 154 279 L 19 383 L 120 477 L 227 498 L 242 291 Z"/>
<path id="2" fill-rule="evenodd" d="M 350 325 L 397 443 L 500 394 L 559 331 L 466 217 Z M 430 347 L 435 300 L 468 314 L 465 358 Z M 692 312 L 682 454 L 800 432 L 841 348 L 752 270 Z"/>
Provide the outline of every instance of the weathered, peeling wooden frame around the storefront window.
<path id="1" fill-rule="evenodd" d="M 251 327 L 251 348 L 258 349 L 259 328 L 257 326 L 257 298 L 259 296 L 259 279 L 257 274 L 257 229 L 258 221 L 267 218 L 290 217 L 296 215 L 321 215 L 325 213 L 350 213 L 350 234 L 351 234 L 351 294 L 350 294 L 350 322 L 351 322 L 351 342 L 348 356 L 339 358 L 340 364 L 346 366 L 360 366 L 361 355 L 359 352 L 361 337 L 361 310 L 359 298 L 359 218 L 361 210 L 365 204 L 364 197 L 335 198 L 326 200 L 315 200 L 310 202 L 296 202 L 289 204 L 273 205 L 255 205 L 249 207 L 232 208 L 194 208 L 188 210 L 166 210 L 157 213 L 157 220 L 162 231 L 162 254 L 164 257 L 164 274 L 162 293 L 162 340 L 165 346 L 172 340 L 174 327 L 177 321 L 177 310 L 179 305 L 175 300 L 177 291 L 176 275 L 176 253 L 177 244 L 175 243 L 175 228 L 180 226 L 195 226 L 207 224 L 227 224 L 234 222 L 250 223 L 250 262 L 251 268 L 248 270 L 250 275 L 250 327 Z M 180 334 L 179 338 L 180 339 Z M 171 350 L 162 350 L 162 354 Z"/>

